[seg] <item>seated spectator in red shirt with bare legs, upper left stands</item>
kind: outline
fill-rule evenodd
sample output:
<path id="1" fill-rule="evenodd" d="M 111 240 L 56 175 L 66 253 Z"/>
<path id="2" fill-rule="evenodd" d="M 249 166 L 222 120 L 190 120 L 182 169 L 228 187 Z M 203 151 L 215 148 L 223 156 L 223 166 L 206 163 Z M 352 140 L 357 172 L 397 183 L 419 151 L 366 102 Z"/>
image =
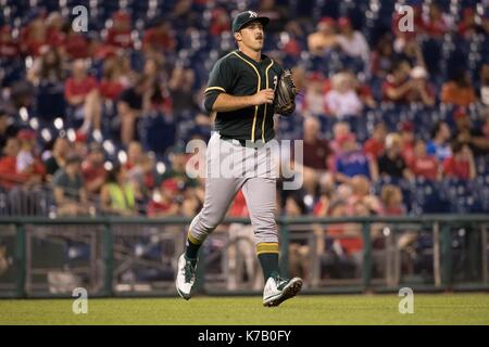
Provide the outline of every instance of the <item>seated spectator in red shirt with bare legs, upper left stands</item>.
<path id="1" fill-rule="evenodd" d="M 97 80 L 88 76 L 83 60 L 73 62 L 72 73 L 65 82 L 64 98 L 75 107 L 75 120 L 83 120 L 83 132 L 88 132 L 90 127 L 100 131 L 102 105 Z"/>

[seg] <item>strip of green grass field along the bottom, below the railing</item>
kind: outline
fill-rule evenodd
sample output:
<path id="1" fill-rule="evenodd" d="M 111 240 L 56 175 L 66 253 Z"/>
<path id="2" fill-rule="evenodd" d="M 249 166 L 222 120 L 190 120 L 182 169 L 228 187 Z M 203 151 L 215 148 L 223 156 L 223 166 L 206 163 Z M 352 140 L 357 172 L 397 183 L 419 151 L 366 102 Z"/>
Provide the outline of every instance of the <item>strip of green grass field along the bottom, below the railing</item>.
<path id="1" fill-rule="evenodd" d="M 489 294 L 415 294 L 414 313 L 390 295 L 298 296 L 276 308 L 260 297 L 0 299 L 0 324 L 489 324 Z"/>

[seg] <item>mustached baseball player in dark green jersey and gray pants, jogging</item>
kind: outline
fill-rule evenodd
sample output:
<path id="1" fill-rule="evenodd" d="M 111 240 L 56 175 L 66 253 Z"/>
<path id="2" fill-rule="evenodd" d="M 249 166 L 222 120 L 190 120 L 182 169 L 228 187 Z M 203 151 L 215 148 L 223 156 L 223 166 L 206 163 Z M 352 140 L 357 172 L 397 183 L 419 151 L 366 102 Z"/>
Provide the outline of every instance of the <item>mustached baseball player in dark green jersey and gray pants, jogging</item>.
<path id="1" fill-rule="evenodd" d="M 274 89 L 284 69 L 261 52 L 268 22 L 252 11 L 238 14 L 233 21 L 238 50 L 218 60 L 210 74 L 204 106 L 215 116 L 216 131 L 206 150 L 205 197 L 202 210 L 190 224 L 176 278 L 178 294 L 187 300 L 196 281 L 198 250 L 223 220 L 240 189 L 265 279 L 263 305 L 278 306 L 302 287 L 302 279 L 284 279 L 278 268 L 276 177 L 271 175 L 275 168 L 267 155 L 267 144 L 275 137 Z M 234 168 L 235 175 L 214 175 L 229 153 L 241 160 Z"/>

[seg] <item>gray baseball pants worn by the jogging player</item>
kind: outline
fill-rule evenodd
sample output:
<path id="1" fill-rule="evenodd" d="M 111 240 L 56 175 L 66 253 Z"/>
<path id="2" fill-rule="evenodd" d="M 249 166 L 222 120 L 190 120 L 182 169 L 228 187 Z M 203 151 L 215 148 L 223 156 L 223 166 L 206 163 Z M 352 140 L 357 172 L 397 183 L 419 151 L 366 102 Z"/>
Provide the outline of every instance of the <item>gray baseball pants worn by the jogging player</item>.
<path id="1" fill-rule="evenodd" d="M 212 134 L 206 149 L 204 204 L 188 233 L 192 243 L 201 244 L 221 223 L 236 193 L 242 189 L 259 254 L 278 252 L 275 222 L 278 164 L 268 143 L 249 147 L 237 140 L 224 140 L 218 132 Z"/>

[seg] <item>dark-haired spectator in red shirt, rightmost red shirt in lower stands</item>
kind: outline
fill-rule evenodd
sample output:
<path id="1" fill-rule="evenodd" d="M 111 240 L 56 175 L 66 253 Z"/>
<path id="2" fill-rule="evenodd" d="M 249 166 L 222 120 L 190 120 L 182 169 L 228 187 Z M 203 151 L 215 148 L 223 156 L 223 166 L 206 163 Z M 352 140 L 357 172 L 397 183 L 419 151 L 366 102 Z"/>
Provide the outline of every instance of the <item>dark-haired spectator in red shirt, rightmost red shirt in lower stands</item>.
<path id="1" fill-rule="evenodd" d="M 476 178 L 474 155 L 468 144 L 459 141 L 452 143 L 452 155 L 443 160 L 443 176 L 460 180 Z"/>

